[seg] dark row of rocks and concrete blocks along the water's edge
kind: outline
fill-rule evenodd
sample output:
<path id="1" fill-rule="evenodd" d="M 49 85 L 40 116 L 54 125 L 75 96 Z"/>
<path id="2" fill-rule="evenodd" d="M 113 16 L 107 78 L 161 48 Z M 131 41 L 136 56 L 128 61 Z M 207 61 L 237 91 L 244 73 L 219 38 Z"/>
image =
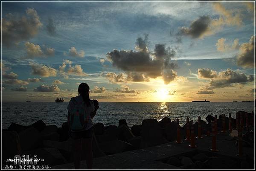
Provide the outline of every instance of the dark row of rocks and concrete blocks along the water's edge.
<path id="1" fill-rule="evenodd" d="M 247 114 L 250 121 L 252 114 L 254 115 L 254 113 Z M 222 117 L 223 115 L 220 115 L 217 119 L 220 130 L 222 129 Z M 208 123 L 201 120 L 202 134 L 211 130 L 210 122 L 214 121 L 214 116 L 208 115 L 206 120 Z M 243 121 L 245 125 L 245 116 Z M 236 119 L 232 118 L 231 122 L 232 128 L 235 128 Z M 228 128 L 229 118 L 227 116 L 225 124 Z M 131 129 L 128 128 L 125 119 L 119 120 L 118 126 L 104 126 L 102 123 L 96 123 L 93 128 L 93 157 L 143 149 L 177 139 L 177 123 L 167 117 L 159 122 L 157 119 L 145 119 L 142 125 L 133 125 Z M 194 122 L 194 129 L 195 136 L 198 136 L 198 122 Z M 180 134 L 181 139 L 186 138 L 186 124 L 180 128 Z M 3 165 L 5 165 L 6 159 L 13 158 L 17 154 L 32 157 L 36 154 L 38 157 L 44 158 L 44 164 L 51 166 L 73 162 L 67 122 L 64 122 L 61 128 L 56 125 L 47 126 L 42 120 L 28 126 L 12 123 L 8 129 L 2 130 L 2 149 Z"/>

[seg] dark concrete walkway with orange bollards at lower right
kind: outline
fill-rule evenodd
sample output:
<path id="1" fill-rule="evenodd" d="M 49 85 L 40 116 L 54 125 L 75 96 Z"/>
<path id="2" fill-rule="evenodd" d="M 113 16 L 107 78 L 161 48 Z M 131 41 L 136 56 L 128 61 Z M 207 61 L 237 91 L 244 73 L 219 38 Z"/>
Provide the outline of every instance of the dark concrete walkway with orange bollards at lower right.
<path id="1" fill-rule="evenodd" d="M 228 133 L 218 133 L 217 149 L 220 151 L 217 154 L 236 157 L 236 154 L 238 154 L 238 146 L 235 145 L 236 141 L 227 139 L 230 139 Z M 177 167 L 165 164 L 159 160 L 196 149 L 210 152 L 209 149 L 212 145 L 212 137 L 207 136 L 203 136 L 202 139 L 196 139 L 196 148 L 190 148 L 186 140 L 182 141 L 182 144 L 169 142 L 145 149 L 94 158 L 93 169 L 177 169 Z M 253 148 L 244 147 L 243 151 L 244 154 L 254 158 Z M 81 169 L 86 168 L 86 162 L 81 161 Z M 74 169 L 74 164 L 55 165 L 51 169 Z"/>

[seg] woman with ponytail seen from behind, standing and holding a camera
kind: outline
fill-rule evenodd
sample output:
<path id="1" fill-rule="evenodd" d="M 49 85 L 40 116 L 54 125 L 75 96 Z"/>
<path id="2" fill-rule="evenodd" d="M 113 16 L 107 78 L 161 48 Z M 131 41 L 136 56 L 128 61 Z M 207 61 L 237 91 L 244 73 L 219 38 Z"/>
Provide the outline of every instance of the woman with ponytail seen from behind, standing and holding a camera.
<path id="1" fill-rule="evenodd" d="M 96 100 L 89 99 L 89 93 L 90 93 L 89 90 L 90 88 L 88 84 L 81 83 L 78 87 L 78 96 L 71 98 L 67 106 L 68 123 L 70 128 L 69 133 L 70 133 L 70 137 L 72 138 L 72 148 L 74 153 L 75 169 L 80 168 L 81 154 L 85 155 L 88 169 L 91 169 L 93 166 L 93 150 L 92 150 L 93 121 L 92 119 L 95 116 L 97 109 L 99 108 L 99 103 Z M 81 105 L 80 108 L 78 108 L 79 104 Z M 84 108 L 82 106 L 84 106 Z M 84 112 L 79 111 L 80 109 L 84 110 Z M 85 119 L 86 121 L 84 120 L 86 124 L 84 124 L 84 127 L 82 128 L 82 130 L 77 131 L 77 130 L 74 130 L 73 129 L 74 126 L 71 126 L 71 125 L 72 124 L 75 125 L 74 123 L 77 121 L 77 119 L 74 119 L 74 117 L 78 115 L 80 117 L 81 115 L 80 113 L 84 113 L 87 119 Z M 79 119 L 79 120 L 82 123 L 82 119 Z"/>

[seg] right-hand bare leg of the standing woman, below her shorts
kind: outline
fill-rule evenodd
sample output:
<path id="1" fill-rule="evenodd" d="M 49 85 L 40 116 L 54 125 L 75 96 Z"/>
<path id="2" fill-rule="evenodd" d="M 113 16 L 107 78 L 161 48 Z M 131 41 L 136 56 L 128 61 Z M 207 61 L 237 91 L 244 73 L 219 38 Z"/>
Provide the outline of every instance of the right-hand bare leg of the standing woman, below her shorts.
<path id="1" fill-rule="evenodd" d="M 83 154 L 86 155 L 86 164 L 88 169 L 93 168 L 93 145 L 92 145 L 92 138 L 83 138 L 82 139 L 83 145 Z"/>

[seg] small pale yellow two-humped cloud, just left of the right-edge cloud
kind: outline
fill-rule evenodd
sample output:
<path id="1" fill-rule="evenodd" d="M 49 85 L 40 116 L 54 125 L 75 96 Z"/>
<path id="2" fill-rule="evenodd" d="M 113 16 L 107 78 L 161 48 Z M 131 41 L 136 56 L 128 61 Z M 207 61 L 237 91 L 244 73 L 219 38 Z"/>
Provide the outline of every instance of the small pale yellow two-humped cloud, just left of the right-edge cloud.
<path id="1" fill-rule="evenodd" d="M 227 52 L 230 50 L 239 49 L 239 47 L 240 47 L 239 39 L 235 39 L 233 42 L 233 45 L 226 44 L 225 41 L 226 41 L 225 38 L 220 38 L 220 39 L 218 39 L 217 43 L 215 44 L 215 46 L 219 52 Z"/>

